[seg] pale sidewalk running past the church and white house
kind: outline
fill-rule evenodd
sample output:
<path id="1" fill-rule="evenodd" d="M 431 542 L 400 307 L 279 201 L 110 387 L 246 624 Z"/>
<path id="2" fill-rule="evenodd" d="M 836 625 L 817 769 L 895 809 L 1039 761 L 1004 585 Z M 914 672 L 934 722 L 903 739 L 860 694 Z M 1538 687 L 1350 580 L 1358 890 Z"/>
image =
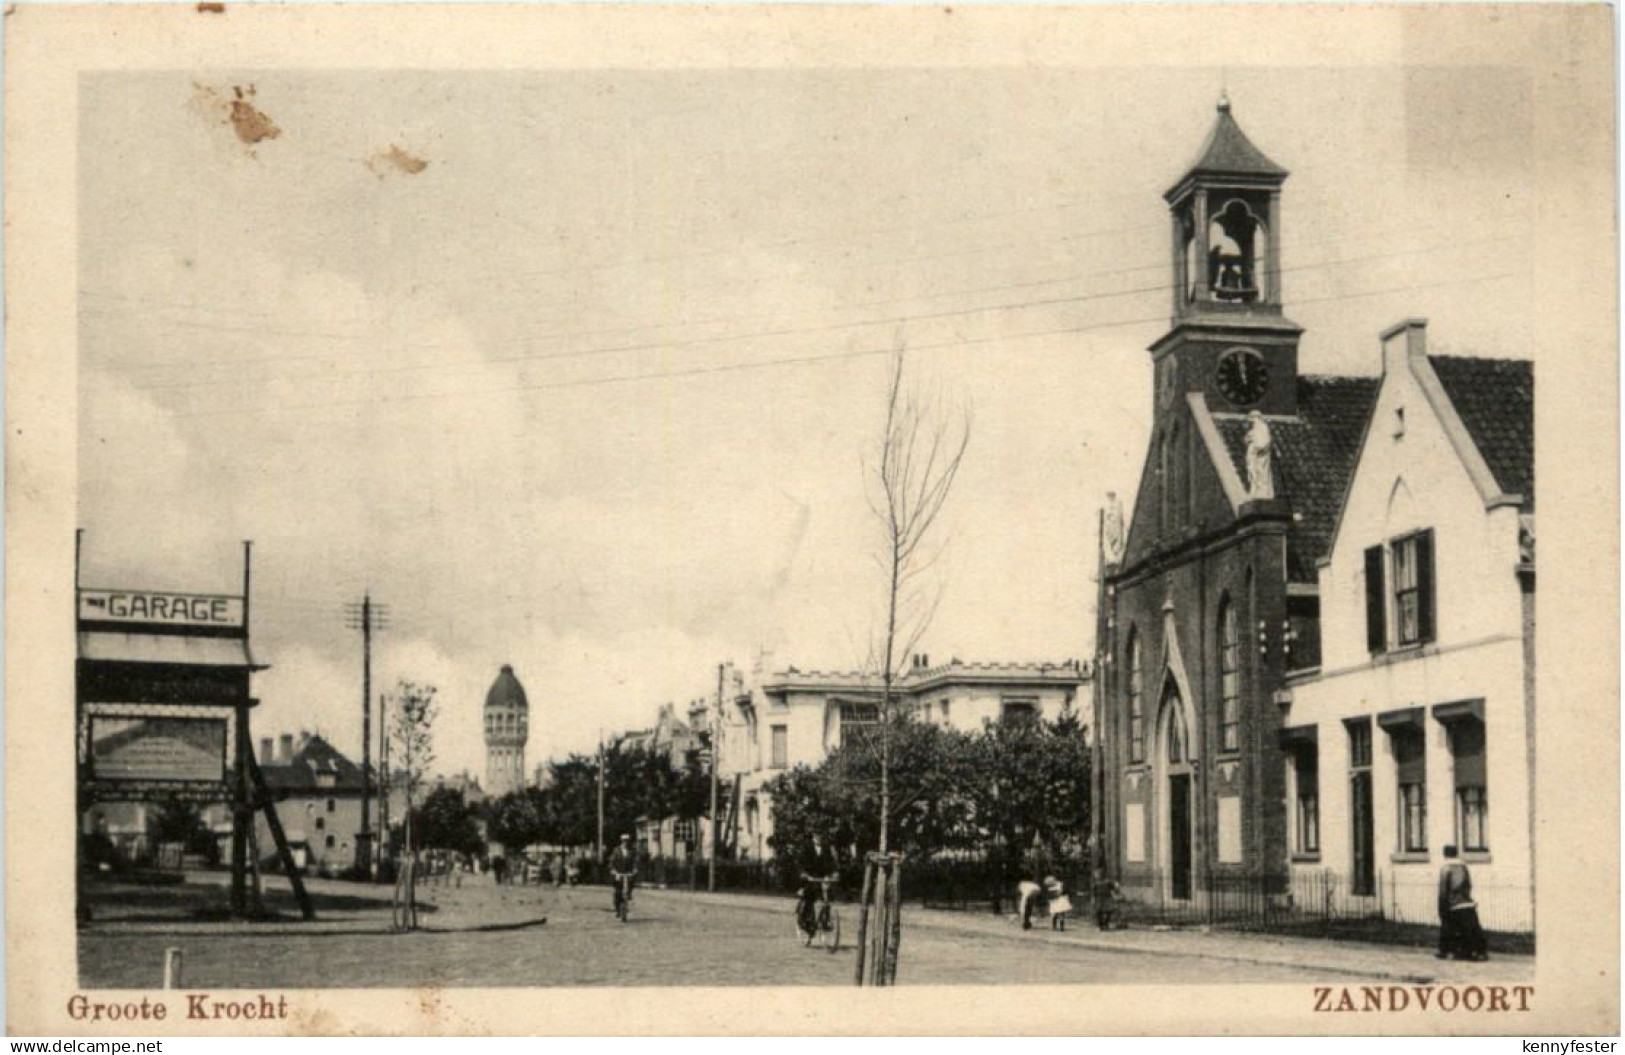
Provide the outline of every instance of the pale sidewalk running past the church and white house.
<path id="1" fill-rule="evenodd" d="M 786 915 L 793 904 L 791 897 L 710 894 L 682 889 L 660 891 L 644 888 L 640 896 L 691 897 L 705 904 L 733 905 L 757 912 L 783 912 Z M 855 912 L 853 905 L 842 905 L 842 909 Z M 1352 974 L 1386 982 L 1474 985 L 1534 982 L 1532 956 L 1497 956 L 1487 964 L 1471 964 L 1435 959 L 1428 949 L 1399 944 L 1292 938 L 1225 930 L 1202 931 L 1196 928 L 1098 931 L 1084 920 L 1068 920 L 1069 928 L 1064 931 L 1048 930 L 1046 922 L 1024 931 L 1012 923 L 1011 917 L 921 909 L 908 904 L 904 905 L 904 920 L 910 927 L 926 927 L 1001 941 L 1050 941 L 1102 953 L 1142 953 L 1180 959 L 1199 957 L 1216 962 L 1271 964 L 1326 970 L 1337 975 Z M 848 933 L 856 935 L 856 927 Z"/>

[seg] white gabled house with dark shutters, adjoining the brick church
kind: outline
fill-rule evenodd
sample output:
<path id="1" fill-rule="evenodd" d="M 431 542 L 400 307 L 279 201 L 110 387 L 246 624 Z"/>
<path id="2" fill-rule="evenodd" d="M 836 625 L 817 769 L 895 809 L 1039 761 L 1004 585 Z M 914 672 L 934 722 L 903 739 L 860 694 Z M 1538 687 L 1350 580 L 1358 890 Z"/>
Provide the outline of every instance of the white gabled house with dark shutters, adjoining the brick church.
<path id="1" fill-rule="evenodd" d="M 1383 335 L 1328 556 L 1321 662 L 1282 707 L 1294 889 L 1436 918 L 1445 847 L 1495 930 L 1534 927 L 1532 369 Z"/>

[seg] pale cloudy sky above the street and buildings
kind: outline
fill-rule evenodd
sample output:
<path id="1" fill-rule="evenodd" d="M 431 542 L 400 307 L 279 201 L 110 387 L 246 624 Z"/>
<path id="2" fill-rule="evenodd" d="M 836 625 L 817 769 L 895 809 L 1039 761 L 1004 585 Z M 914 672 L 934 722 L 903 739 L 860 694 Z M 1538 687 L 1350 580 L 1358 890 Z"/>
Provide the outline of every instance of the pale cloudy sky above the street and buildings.
<path id="1" fill-rule="evenodd" d="M 722 662 L 860 662 L 900 340 L 972 423 L 920 650 L 1087 657 L 1220 88 L 1292 171 L 1305 372 L 1409 315 L 1539 359 L 1528 260 L 1573 232 L 1514 68 L 88 75 L 83 582 L 232 590 L 252 538 L 257 736 L 359 749 L 370 592 L 444 771 L 502 663 L 531 762 L 592 749 Z"/>

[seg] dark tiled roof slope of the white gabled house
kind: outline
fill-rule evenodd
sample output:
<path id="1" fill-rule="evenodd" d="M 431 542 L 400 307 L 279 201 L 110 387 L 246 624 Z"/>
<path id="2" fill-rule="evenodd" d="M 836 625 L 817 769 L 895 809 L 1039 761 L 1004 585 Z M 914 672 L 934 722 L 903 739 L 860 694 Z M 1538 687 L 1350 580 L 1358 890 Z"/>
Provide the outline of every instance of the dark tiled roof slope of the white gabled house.
<path id="1" fill-rule="evenodd" d="M 1428 364 L 1495 483 L 1534 509 L 1534 364 L 1528 359 L 1428 356 Z"/>

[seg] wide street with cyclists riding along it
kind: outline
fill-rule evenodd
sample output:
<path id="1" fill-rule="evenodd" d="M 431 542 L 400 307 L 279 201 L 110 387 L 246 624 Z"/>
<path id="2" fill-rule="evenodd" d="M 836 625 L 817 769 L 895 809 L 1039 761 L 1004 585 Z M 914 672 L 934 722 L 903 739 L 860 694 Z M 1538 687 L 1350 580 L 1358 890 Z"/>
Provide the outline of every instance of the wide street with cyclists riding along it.
<path id="1" fill-rule="evenodd" d="M 382 888 L 314 886 L 322 905 L 317 923 L 169 923 L 151 912 L 98 917 L 80 933 L 81 985 L 156 988 L 166 948 L 182 949 L 187 988 L 850 985 L 853 975 L 856 909 L 850 904 L 840 905 L 842 948 L 830 954 L 803 948 L 788 899 L 639 891 L 630 920 L 621 923 L 604 888 L 474 881 L 426 889 L 422 901 L 432 910 L 422 912 L 424 930 L 393 935 Z M 218 886 L 188 889 L 224 894 Z M 1212 980 L 1216 967 L 1227 982 L 1372 977 L 1360 967 L 1370 961 L 1368 954 L 1362 959 L 1363 946 L 1298 944 L 1308 949 L 1308 962 L 1216 962 L 1100 948 L 1092 928 L 1076 922 L 1068 933 L 1024 933 L 994 917 L 905 907 L 899 983 L 1201 983 Z M 1350 969 L 1328 974 L 1324 964 L 1342 962 L 1341 956 L 1352 957 Z"/>

